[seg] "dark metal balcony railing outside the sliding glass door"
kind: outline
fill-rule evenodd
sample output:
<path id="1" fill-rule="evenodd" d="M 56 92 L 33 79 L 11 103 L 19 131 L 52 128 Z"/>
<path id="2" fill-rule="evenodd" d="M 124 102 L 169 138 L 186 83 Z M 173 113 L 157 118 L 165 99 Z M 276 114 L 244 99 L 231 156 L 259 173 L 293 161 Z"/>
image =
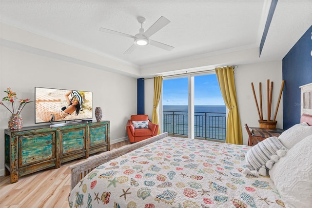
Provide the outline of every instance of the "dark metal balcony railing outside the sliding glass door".
<path id="1" fill-rule="evenodd" d="M 163 111 L 163 132 L 188 136 L 188 113 Z M 225 141 L 226 113 L 195 112 L 194 135 L 200 139 Z"/>

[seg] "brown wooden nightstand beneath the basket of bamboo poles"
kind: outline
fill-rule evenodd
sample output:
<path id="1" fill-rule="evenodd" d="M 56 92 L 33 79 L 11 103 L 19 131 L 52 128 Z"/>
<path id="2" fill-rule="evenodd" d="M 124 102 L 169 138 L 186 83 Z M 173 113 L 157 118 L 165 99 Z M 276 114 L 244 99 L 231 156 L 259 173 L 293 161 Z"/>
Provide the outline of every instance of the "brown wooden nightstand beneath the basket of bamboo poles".
<path id="1" fill-rule="evenodd" d="M 268 137 L 278 137 L 284 130 L 280 128 L 258 128 L 249 127 L 246 125 L 246 129 L 249 135 L 248 145 L 255 146 L 259 142 L 265 140 Z M 251 132 L 249 131 L 251 130 Z"/>

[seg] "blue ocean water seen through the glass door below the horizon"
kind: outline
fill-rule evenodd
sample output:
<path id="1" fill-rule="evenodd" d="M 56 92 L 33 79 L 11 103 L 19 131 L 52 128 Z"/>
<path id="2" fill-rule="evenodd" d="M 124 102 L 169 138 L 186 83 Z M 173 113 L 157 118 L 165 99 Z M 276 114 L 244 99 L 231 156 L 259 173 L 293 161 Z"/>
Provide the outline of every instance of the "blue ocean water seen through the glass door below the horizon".
<path id="1" fill-rule="evenodd" d="M 195 105 L 194 111 L 195 137 L 225 140 L 225 105 Z M 163 105 L 163 131 L 188 135 L 187 105 Z"/>

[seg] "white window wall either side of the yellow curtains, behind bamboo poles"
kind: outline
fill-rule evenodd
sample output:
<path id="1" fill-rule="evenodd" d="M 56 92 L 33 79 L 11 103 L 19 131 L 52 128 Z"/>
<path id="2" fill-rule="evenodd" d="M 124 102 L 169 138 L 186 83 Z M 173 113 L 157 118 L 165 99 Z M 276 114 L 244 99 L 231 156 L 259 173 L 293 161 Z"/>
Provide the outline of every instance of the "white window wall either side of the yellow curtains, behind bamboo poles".
<path id="1" fill-rule="evenodd" d="M 259 117 L 254 102 L 254 95 L 251 83 L 254 83 L 254 88 L 259 103 L 259 82 L 262 83 L 262 104 L 263 104 L 263 117 L 267 119 L 267 80 L 273 82 L 273 99 L 272 99 L 272 112 L 271 118 L 273 119 L 279 91 L 282 82 L 282 62 L 260 62 L 253 64 L 244 64 L 235 67 L 234 80 L 236 87 L 236 95 L 238 100 L 238 108 L 240 114 L 240 121 L 243 133 L 243 143 L 248 144 L 248 134 L 244 127 L 245 124 L 249 126 L 259 127 Z M 153 110 L 153 92 L 154 80 L 149 79 L 145 81 L 145 114 L 149 114 Z M 282 99 L 279 104 L 278 113 L 276 116 L 277 128 L 283 128 L 283 102 Z M 160 126 L 161 128 L 161 126 Z"/>

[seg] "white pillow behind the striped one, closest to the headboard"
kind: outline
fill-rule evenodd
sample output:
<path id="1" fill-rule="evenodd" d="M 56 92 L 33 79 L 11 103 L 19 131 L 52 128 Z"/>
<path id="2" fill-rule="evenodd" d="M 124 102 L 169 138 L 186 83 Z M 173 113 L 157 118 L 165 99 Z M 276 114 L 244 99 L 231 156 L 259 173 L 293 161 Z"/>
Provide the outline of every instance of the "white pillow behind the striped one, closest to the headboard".
<path id="1" fill-rule="evenodd" d="M 281 133 L 278 139 L 288 149 L 291 149 L 295 144 L 312 135 L 312 126 L 307 123 L 296 124 Z"/>

